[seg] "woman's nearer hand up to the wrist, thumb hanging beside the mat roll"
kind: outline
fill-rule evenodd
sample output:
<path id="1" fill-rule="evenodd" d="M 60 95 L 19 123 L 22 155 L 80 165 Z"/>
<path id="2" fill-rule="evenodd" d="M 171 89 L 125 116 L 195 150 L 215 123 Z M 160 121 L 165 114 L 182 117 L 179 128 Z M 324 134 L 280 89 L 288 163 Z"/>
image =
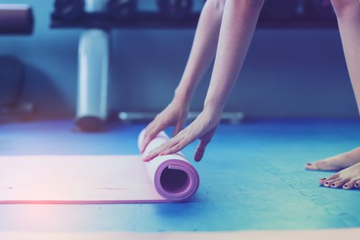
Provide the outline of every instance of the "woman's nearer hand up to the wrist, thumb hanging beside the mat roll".
<path id="1" fill-rule="evenodd" d="M 149 162 L 156 156 L 163 156 L 167 154 L 173 154 L 179 152 L 181 149 L 193 143 L 196 139 L 200 139 L 199 145 L 194 155 L 195 161 L 200 161 L 208 143 L 213 138 L 217 125 L 219 125 L 221 111 L 206 111 L 200 113 L 200 115 L 191 123 L 187 128 L 179 132 L 172 139 L 163 143 L 156 149 L 149 152 L 148 156 L 143 159 L 144 162 Z"/>

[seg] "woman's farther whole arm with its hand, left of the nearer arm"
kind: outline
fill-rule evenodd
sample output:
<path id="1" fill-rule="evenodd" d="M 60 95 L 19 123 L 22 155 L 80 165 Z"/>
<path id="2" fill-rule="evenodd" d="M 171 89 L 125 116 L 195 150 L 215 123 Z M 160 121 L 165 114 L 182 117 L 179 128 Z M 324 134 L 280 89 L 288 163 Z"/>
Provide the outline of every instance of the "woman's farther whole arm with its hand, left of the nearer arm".
<path id="1" fill-rule="evenodd" d="M 225 0 L 206 1 L 197 23 L 187 67 L 176 88 L 175 97 L 171 104 L 147 126 L 141 153 L 159 132 L 173 125 L 175 127 L 173 136 L 175 136 L 186 123 L 195 88 L 215 57 L 225 2 Z"/>

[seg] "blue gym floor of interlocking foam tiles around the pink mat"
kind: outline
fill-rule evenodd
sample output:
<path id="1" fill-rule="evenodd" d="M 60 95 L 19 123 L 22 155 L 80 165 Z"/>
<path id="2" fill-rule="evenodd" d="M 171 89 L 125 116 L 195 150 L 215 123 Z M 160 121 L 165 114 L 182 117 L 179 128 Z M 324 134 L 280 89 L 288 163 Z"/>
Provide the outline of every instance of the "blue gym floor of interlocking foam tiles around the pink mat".
<path id="1" fill-rule="evenodd" d="M 71 121 L 0 125 L 0 154 L 138 154 L 144 125 L 73 132 Z M 360 226 L 360 191 L 326 189 L 329 172 L 304 163 L 360 145 L 358 121 L 257 121 L 220 125 L 204 160 L 192 163 L 200 188 L 181 204 L 0 205 L 0 230 L 220 231 Z M 195 143 L 184 149 L 192 159 Z M 21 176 L 19 176 L 21 178 Z"/>

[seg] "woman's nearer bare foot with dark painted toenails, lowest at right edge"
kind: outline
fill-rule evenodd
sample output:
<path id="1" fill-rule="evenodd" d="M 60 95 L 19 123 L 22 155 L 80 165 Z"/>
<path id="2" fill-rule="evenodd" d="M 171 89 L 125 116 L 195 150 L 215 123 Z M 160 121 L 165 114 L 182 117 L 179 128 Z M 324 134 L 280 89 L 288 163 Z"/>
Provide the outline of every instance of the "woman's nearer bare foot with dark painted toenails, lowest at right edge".
<path id="1" fill-rule="evenodd" d="M 341 170 L 328 178 L 320 179 L 320 185 L 324 187 L 343 189 L 360 189 L 360 163 L 357 163 L 347 169 Z"/>

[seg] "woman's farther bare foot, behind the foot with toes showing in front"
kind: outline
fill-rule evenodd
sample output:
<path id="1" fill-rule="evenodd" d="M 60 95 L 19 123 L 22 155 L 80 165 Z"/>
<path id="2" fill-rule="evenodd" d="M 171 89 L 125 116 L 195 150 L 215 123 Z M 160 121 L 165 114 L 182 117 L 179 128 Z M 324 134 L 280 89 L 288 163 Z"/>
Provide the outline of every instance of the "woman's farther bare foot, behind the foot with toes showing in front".
<path id="1" fill-rule="evenodd" d="M 360 147 L 352 149 L 350 152 L 344 152 L 344 154 L 307 163 L 305 168 L 308 170 L 339 171 L 357 163 L 360 163 Z"/>

